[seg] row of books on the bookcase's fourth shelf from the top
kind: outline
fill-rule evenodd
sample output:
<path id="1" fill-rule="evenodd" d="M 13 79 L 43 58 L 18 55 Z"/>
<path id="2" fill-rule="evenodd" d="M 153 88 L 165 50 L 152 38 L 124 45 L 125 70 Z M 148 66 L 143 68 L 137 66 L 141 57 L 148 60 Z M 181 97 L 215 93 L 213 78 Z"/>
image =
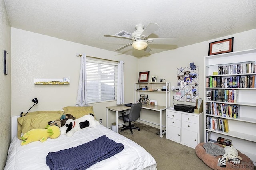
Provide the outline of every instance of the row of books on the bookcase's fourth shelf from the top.
<path id="1" fill-rule="evenodd" d="M 223 117 L 238 118 L 239 106 L 233 104 L 223 104 L 215 102 L 206 102 L 206 114 L 218 115 Z"/>

